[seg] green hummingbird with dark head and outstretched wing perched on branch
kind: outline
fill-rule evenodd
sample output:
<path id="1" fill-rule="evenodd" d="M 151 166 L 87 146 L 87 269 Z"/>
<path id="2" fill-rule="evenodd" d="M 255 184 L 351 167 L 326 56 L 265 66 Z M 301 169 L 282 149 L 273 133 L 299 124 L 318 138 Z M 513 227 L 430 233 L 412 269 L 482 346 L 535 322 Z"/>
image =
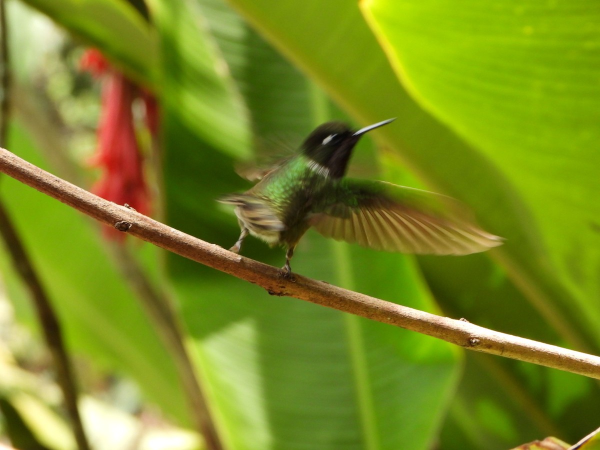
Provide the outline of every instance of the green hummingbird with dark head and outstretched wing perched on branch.
<path id="1" fill-rule="evenodd" d="M 248 233 L 271 247 L 286 248 L 283 276 L 310 227 L 338 241 L 375 250 L 464 255 L 501 245 L 503 239 L 466 218 L 457 200 L 384 181 L 347 178 L 354 146 L 377 122 L 352 131 L 343 122 L 316 128 L 292 157 L 265 170 L 244 193 L 218 199 L 235 205 L 241 228 L 230 251 L 239 253 Z"/>

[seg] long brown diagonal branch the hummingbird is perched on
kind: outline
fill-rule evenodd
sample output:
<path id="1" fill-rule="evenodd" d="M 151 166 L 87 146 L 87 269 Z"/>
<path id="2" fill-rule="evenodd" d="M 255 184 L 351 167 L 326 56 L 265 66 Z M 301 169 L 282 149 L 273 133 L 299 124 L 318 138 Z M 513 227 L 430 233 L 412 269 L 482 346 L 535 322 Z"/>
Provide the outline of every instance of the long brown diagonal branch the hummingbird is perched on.
<path id="1" fill-rule="evenodd" d="M 271 295 L 291 296 L 378 322 L 427 334 L 470 350 L 532 362 L 600 379 L 600 357 L 500 333 L 464 320 L 449 319 L 323 281 L 296 275 L 281 277 L 280 269 L 239 256 L 115 205 L 0 149 L 0 172 L 72 206 L 102 223 L 151 242 L 165 250 L 265 288 Z"/>

